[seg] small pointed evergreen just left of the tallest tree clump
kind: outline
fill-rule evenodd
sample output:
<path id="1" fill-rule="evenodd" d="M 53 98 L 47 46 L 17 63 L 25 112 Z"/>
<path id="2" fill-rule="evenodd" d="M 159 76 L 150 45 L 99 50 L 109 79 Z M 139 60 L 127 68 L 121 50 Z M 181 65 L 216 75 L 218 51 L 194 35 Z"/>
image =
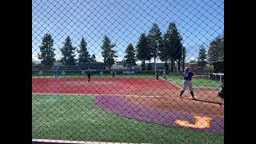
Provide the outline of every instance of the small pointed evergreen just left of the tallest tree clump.
<path id="1" fill-rule="evenodd" d="M 134 46 L 131 43 L 126 48 L 125 58 L 126 58 L 125 60 L 126 66 L 130 66 L 130 70 L 131 70 L 131 66 L 136 65 L 135 50 L 134 50 Z"/>

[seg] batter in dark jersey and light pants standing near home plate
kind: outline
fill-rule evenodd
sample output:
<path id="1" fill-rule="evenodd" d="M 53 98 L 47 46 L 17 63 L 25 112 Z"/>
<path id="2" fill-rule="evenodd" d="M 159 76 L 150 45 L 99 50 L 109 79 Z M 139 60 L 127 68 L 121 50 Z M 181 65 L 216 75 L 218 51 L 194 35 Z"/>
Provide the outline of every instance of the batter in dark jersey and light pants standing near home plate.
<path id="1" fill-rule="evenodd" d="M 194 75 L 194 73 L 192 73 L 190 71 L 190 68 L 186 67 L 184 73 L 183 73 L 183 90 L 179 96 L 179 98 L 182 98 L 182 94 L 184 93 L 184 91 L 186 90 L 186 87 L 189 88 L 190 90 L 190 94 L 192 96 L 193 99 L 194 98 L 194 92 L 193 92 L 193 87 L 192 87 L 192 76 Z"/>

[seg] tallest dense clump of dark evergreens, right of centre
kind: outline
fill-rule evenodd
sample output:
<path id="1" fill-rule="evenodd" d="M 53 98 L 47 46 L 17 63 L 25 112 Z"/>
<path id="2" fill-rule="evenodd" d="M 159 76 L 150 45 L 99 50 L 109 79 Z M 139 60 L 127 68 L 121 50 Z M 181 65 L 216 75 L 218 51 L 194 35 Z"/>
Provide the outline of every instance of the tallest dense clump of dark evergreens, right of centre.
<path id="1" fill-rule="evenodd" d="M 178 62 L 178 70 L 180 70 L 182 58 L 186 55 L 183 54 L 183 49 L 185 48 L 182 46 L 182 37 L 174 22 L 170 22 L 165 34 L 162 34 L 158 25 L 154 23 L 149 34 L 141 34 L 136 46 L 136 56 L 142 61 L 142 70 L 145 70 L 145 61 L 151 61 L 152 58 L 154 62 L 156 58 L 165 62 L 166 70 L 168 70 L 167 62 L 170 62 L 171 71 L 174 70 L 174 62 Z"/>

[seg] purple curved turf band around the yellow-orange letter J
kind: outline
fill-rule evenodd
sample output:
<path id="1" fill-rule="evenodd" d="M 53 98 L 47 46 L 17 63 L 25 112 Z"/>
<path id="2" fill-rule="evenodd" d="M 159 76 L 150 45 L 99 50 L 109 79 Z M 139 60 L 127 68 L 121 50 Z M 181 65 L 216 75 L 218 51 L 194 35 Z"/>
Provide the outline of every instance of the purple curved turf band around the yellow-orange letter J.
<path id="1" fill-rule="evenodd" d="M 177 110 L 156 110 L 153 108 L 146 108 L 143 106 L 137 106 L 132 102 L 129 102 L 126 97 L 123 96 L 103 96 L 98 95 L 94 98 L 94 102 L 97 106 L 103 110 L 114 112 L 115 114 L 126 116 L 128 118 L 134 118 L 146 122 L 154 122 L 166 126 L 179 126 L 175 124 L 175 120 L 186 120 L 194 123 L 195 118 L 191 114 L 182 114 Z M 191 130 L 203 130 L 207 132 L 223 132 L 224 131 L 224 119 L 218 117 L 212 117 L 210 121 L 210 128 L 196 129 L 185 127 Z"/>

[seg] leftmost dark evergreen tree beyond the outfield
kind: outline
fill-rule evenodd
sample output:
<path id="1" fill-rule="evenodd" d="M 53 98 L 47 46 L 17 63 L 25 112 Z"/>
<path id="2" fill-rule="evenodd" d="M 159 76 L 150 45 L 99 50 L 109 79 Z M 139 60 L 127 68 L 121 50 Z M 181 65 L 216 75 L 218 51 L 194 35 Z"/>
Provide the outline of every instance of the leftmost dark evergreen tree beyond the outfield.
<path id="1" fill-rule="evenodd" d="M 54 39 L 50 34 L 45 34 L 42 38 L 42 44 L 39 46 L 41 54 L 38 54 L 38 59 L 42 60 L 44 66 L 53 66 L 55 62 L 54 54 Z"/>

